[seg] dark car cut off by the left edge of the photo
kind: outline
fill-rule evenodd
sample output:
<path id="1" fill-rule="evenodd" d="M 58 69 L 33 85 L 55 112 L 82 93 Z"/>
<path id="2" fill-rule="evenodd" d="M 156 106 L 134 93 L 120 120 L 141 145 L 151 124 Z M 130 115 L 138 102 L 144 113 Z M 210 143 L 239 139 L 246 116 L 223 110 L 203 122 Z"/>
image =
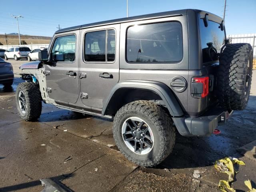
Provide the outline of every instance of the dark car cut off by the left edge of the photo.
<path id="1" fill-rule="evenodd" d="M 13 69 L 12 64 L 0 58 L 0 84 L 4 86 L 11 86 L 13 83 Z"/>

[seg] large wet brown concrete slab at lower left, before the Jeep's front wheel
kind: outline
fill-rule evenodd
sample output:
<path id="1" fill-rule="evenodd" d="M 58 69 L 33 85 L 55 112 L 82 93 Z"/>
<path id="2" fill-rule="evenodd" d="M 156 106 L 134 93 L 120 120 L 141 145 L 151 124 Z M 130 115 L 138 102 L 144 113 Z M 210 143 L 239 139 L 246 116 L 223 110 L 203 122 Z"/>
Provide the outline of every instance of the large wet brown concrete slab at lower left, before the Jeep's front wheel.
<path id="1" fill-rule="evenodd" d="M 0 191 L 40 191 L 39 179 L 74 176 L 110 150 L 40 122 L 17 122 L 0 132 Z"/>

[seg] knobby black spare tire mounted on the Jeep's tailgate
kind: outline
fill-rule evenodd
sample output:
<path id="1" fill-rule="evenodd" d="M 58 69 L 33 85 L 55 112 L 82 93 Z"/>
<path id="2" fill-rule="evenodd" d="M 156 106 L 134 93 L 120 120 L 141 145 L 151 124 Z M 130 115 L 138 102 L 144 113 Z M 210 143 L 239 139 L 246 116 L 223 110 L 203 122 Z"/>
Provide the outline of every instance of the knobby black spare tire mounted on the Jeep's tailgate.
<path id="1" fill-rule="evenodd" d="M 252 47 L 247 43 L 227 44 L 220 56 L 217 96 L 228 110 L 244 110 L 252 82 Z"/>

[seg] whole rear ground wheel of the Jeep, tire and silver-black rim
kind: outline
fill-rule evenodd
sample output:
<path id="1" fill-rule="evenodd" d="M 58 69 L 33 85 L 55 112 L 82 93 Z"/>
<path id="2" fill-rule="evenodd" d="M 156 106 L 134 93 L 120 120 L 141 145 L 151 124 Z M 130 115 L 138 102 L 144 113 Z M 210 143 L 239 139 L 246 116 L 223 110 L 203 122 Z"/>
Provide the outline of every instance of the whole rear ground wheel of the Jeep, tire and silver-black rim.
<path id="1" fill-rule="evenodd" d="M 166 110 L 138 100 L 126 104 L 114 117 L 116 146 L 132 162 L 152 167 L 162 162 L 175 143 L 175 129 Z"/>

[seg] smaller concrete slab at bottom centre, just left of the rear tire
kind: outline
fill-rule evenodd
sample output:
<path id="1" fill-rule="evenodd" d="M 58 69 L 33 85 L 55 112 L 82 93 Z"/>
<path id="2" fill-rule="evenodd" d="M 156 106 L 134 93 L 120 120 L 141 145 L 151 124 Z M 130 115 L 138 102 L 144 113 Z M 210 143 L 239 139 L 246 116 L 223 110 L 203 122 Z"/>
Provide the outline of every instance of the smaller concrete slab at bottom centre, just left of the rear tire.
<path id="1" fill-rule="evenodd" d="M 104 156 L 77 170 L 76 177 L 66 178 L 62 183 L 74 191 L 110 191 L 136 167 L 120 152 L 109 150 Z"/>

